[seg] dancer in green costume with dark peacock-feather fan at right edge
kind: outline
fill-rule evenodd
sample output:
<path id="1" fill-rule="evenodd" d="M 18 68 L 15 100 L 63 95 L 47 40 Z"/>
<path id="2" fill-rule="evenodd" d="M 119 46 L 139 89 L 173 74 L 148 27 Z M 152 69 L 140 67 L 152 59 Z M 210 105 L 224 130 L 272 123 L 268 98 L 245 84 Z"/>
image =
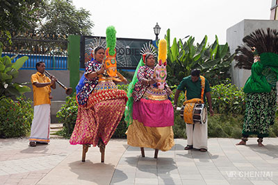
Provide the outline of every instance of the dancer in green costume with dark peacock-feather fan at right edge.
<path id="1" fill-rule="evenodd" d="M 270 125 L 274 124 L 277 107 L 277 77 L 278 77 L 278 38 L 276 30 L 268 28 L 256 30 L 243 39 L 251 48 L 242 46 L 236 50 L 236 67 L 248 69 L 251 66 L 251 76 L 245 83 L 243 91 L 246 94 L 245 122 L 243 137 L 237 145 L 245 145 L 248 136 L 258 136 L 258 146 L 263 146 L 263 137 L 268 136 Z"/>

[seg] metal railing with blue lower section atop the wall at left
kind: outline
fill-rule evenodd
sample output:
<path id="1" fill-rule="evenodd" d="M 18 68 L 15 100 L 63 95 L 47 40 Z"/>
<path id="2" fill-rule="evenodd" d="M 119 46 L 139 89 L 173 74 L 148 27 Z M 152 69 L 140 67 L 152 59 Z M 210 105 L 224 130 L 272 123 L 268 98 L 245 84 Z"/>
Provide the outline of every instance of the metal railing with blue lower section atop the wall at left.
<path id="1" fill-rule="evenodd" d="M 3 55 L 17 55 L 12 62 L 28 56 L 22 69 L 35 69 L 37 62 L 45 62 L 46 69 L 67 70 L 67 39 L 12 38 L 12 45 L 3 39 Z"/>

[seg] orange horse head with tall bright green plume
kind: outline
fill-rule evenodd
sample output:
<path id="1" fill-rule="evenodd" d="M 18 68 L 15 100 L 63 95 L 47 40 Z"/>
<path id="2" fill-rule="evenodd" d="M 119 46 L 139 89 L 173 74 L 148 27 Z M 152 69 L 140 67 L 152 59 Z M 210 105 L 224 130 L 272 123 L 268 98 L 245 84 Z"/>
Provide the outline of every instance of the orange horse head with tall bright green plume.
<path id="1" fill-rule="evenodd" d="M 106 28 L 106 58 L 104 60 L 104 65 L 106 67 L 106 72 L 108 76 L 117 76 L 117 61 L 116 61 L 116 30 L 114 26 L 109 26 Z"/>

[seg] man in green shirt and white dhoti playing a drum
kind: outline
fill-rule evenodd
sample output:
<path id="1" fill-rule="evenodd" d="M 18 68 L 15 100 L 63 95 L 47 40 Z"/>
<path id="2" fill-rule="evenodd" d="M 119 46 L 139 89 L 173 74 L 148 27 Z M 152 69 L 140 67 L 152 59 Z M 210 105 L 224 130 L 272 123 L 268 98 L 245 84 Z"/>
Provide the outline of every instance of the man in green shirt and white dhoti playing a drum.
<path id="1" fill-rule="evenodd" d="M 203 85 L 202 85 L 203 84 Z M 202 90 L 203 87 L 203 90 Z M 200 76 L 200 71 L 193 69 L 191 75 L 183 78 L 179 83 L 176 93 L 174 94 L 174 109 L 177 109 L 177 100 L 181 91 L 186 91 L 186 99 L 188 101 L 195 98 L 203 99 L 206 103 L 206 98 L 208 100 L 208 110 L 213 116 L 213 109 L 211 106 L 211 88 L 209 87 L 208 80 L 203 76 Z M 204 96 L 204 94 L 206 96 Z M 206 97 L 206 98 L 205 98 Z M 187 135 L 187 146 L 184 150 L 191 150 L 193 148 L 200 150 L 201 152 L 206 152 L 208 150 L 208 124 L 207 119 L 204 124 L 186 123 L 186 135 Z"/>

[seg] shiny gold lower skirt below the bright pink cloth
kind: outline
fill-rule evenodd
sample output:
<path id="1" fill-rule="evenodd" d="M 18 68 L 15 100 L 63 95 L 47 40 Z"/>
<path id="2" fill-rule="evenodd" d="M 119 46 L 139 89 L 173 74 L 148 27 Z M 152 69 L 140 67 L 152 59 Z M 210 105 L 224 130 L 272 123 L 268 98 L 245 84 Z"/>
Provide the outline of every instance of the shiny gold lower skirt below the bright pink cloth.
<path id="1" fill-rule="evenodd" d="M 130 146 L 154 148 L 167 151 L 174 146 L 174 132 L 170 127 L 145 127 L 143 123 L 133 120 L 126 131 Z"/>

